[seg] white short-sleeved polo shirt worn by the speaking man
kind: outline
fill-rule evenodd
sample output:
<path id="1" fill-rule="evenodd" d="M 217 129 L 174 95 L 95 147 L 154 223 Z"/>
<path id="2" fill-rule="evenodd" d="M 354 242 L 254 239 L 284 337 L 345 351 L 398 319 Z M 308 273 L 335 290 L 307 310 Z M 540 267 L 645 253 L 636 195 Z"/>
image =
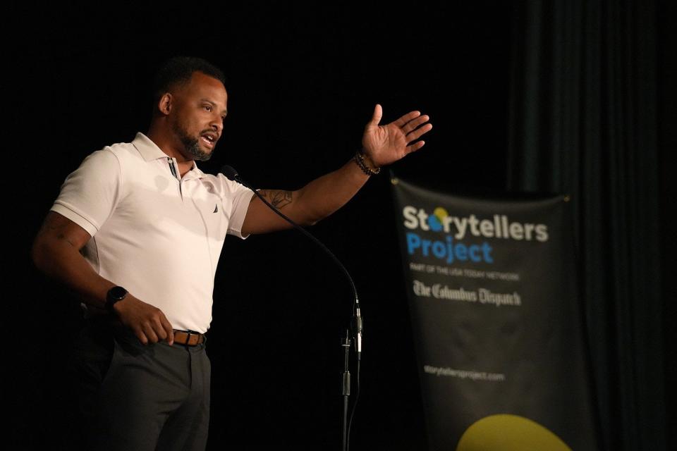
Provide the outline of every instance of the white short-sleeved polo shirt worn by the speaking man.
<path id="1" fill-rule="evenodd" d="M 204 333 L 221 248 L 226 234 L 245 238 L 254 193 L 195 163 L 180 177 L 176 159 L 138 133 L 87 156 L 51 210 L 92 235 L 83 255 L 94 271 L 161 309 L 173 328 Z"/>

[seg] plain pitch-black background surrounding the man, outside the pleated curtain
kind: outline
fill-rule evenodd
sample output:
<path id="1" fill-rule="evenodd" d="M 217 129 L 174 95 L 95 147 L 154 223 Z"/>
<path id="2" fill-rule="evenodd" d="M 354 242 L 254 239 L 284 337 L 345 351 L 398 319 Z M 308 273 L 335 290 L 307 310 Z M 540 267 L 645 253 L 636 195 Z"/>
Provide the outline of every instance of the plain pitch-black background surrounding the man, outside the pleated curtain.
<path id="1" fill-rule="evenodd" d="M 674 6 L 658 6 L 662 206 L 669 218 L 677 167 L 670 20 L 677 15 Z M 13 226 L 18 237 L 8 237 L 19 270 L 8 283 L 25 290 L 10 328 L 28 326 L 30 333 L 5 386 L 18 406 L 12 432 L 20 447 L 58 449 L 78 428 L 63 371 L 77 306 L 32 269 L 30 242 L 63 179 L 87 154 L 146 131 L 150 79 L 161 61 L 201 56 L 228 78 L 224 136 L 212 161 L 200 165 L 205 172 L 227 163 L 257 187 L 301 187 L 350 159 L 378 102 L 384 122 L 418 109 L 434 124 L 425 147 L 391 167 L 398 176 L 457 193 L 502 193 L 515 9 L 486 0 L 404 8 L 10 7 L 6 20 L 17 31 L 4 35 L 14 112 L 5 121 L 6 168 L 19 186 L 13 202 L 20 226 Z M 382 174 L 312 229 L 355 279 L 366 321 L 354 450 L 426 447 L 394 218 L 389 177 Z M 669 230 L 667 219 L 661 224 Z M 662 271 L 666 393 L 673 395 L 669 236 Z M 207 345 L 209 449 L 338 448 L 339 339 L 350 307 L 341 273 L 298 233 L 226 240 Z M 673 415 L 669 407 L 668 419 Z"/>

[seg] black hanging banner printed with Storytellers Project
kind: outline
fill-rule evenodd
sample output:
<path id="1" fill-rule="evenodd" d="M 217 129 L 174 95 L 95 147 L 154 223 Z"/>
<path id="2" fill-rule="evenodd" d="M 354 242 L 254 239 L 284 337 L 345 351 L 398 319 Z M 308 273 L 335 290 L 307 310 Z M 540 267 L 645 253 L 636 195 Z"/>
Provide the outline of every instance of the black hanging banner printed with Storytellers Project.
<path id="1" fill-rule="evenodd" d="M 432 450 L 596 450 L 565 197 L 393 179 Z"/>

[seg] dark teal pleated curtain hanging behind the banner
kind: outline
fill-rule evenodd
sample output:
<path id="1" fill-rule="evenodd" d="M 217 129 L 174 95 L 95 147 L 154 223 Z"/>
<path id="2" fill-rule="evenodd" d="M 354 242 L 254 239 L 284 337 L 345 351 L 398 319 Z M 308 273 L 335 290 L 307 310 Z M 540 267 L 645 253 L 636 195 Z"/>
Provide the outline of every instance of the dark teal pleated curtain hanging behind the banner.
<path id="1" fill-rule="evenodd" d="M 665 449 L 656 5 L 530 1 L 513 27 L 508 187 L 571 194 L 605 449 Z"/>

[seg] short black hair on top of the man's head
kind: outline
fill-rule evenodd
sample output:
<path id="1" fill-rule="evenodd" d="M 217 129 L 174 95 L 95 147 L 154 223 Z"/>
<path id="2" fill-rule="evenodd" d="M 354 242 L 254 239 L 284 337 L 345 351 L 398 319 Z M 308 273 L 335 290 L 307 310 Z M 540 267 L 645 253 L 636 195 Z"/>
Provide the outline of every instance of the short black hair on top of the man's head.
<path id="1" fill-rule="evenodd" d="M 187 83 L 194 72 L 202 72 L 226 85 L 224 73 L 209 61 L 194 56 L 174 56 L 164 61 L 155 73 L 153 101 L 157 104 L 160 97 L 173 86 Z"/>

